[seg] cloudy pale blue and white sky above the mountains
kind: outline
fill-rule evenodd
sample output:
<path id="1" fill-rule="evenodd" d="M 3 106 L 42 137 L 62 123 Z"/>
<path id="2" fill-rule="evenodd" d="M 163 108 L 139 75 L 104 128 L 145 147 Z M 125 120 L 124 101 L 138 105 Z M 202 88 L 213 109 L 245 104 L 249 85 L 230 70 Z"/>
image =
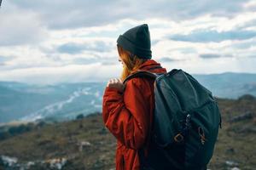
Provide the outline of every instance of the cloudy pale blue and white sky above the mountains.
<path id="1" fill-rule="evenodd" d="M 116 39 L 144 23 L 168 71 L 256 73 L 255 0 L 3 0 L 0 81 L 119 77 Z"/>

